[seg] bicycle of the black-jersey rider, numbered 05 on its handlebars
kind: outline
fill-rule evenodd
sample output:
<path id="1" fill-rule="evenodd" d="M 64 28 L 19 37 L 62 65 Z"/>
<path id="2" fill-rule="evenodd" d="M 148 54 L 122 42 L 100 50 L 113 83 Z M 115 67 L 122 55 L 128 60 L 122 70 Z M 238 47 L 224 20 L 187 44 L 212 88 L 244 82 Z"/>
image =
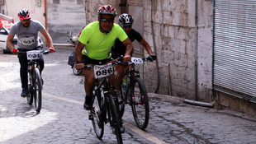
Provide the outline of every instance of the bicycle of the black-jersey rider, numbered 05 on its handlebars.
<path id="1" fill-rule="evenodd" d="M 135 70 L 135 64 L 149 61 L 149 58 L 131 58 L 130 63 L 123 74 L 121 88 L 120 113 L 125 112 L 125 105 L 129 104 L 138 128 L 144 130 L 149 124 L 149 97 L 144 82 L 140 78 L 140 72 Z M 128 99 L 129 98 L 129 99 Z"/>

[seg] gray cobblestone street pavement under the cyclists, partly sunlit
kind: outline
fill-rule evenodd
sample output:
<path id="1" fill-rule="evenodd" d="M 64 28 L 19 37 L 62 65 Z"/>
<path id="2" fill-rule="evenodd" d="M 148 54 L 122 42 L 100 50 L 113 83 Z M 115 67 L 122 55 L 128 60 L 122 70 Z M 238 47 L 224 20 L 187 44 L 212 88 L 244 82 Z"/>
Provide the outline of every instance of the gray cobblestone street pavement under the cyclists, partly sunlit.
<path id="1" fill-rule="evenodd" d="M 43 105 L 20 97 L 17 56 L 0 54 L 0 143 L 116 143 L 109 123 L 102 141 L 93 132 L 83 110 L 83 77 L 74 76 L 67 64 L 71 49 L 45 56 Z M 223 108 L 189 105 L 183 99 L 149 93 L 150 119 L 145 131 L 136 128 L 126 105 L 124 143 L 256 143 L 256 118 Z"/>

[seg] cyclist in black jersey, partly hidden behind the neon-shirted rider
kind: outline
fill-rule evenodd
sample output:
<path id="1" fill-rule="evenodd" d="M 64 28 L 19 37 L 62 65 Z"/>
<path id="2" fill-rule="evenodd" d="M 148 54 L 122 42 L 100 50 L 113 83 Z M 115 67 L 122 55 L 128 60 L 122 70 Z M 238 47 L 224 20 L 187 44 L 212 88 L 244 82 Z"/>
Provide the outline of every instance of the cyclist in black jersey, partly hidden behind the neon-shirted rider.
<path id="1" fill-rule="evenodd" d="M 156 59 L 156 56 L 153 54 L 149 43 L 140 35 L 140 33 L 134 29 L 132 29 L 133 24 L 133 17 L 130 14 L 123 13 L 118 17 L 119 25 L 125 30 L 126 35 L 128 35 L 131 42 L 135 39 L 144 46 L 147 53 L 149 53 L 149 58 L 151 61 Z M 111 49 L 111 57 L 112 58 L 119 58 L 121 55 L 126 53 L 126 46 L 121 43 L 119 39 L 116 39 L 114 46 Z M 119 67 L 116 71 L 116 92 L 117 95 L 121 95 L 121 82 L 122 82 L 122 75 L 125 70 L 125 67 Z"/>

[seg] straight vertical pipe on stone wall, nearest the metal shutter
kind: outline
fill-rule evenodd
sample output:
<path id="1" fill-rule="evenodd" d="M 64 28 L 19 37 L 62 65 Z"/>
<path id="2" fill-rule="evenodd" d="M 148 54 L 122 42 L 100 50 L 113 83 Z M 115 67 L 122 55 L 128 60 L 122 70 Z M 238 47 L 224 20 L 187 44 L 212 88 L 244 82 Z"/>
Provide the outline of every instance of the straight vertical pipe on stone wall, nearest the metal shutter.
<path id="1" fill-rule="evenodd" d="M 197 98 L 197 7 L 198 3 L 197 0 L 195 0 L 195 100 L 198 100 Z"/>

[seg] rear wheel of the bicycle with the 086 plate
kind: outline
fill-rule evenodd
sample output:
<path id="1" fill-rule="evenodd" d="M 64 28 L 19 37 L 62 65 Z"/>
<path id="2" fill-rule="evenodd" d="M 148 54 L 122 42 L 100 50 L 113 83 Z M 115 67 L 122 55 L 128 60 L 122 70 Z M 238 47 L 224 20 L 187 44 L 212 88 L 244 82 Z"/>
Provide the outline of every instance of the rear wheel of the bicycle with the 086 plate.
<path id="1" fill-rule="evenodd" d="M 94 132 L 98 139 L 102 139 L 104 134 L 104 122 L 102 119 L 102 112 L 103 112 L 103 106 L 102 106 L 102 97 L 101 92 L 97 91 L 95 92 L 95 98 L 93 101 L 93 109 L 90 111 L 92 115 L 92 126 L 94 129 Z"/>

